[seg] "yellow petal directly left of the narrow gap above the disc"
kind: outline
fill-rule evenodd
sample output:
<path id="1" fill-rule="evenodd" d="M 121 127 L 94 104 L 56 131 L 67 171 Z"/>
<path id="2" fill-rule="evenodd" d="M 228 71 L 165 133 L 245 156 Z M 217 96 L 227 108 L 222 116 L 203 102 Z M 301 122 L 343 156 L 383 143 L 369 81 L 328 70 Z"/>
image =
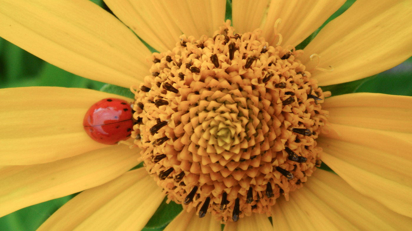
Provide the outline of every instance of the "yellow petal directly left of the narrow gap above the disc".
<path id="1" fill-rule="evenodd" d="M 225 0 L 181 1 L 166 0 L 164 5 L 183 33 L 199 39 L 213 36 L 225 21 Z"/>

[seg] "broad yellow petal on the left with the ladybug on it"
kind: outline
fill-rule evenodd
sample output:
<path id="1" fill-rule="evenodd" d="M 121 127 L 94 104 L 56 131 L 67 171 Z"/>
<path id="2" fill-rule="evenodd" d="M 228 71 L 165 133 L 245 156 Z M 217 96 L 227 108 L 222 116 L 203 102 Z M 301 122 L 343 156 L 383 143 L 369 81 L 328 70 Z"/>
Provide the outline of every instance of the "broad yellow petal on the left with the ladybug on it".
<path id="1" fill-rule="evenodd" d="M 107 97 L 131 101 L 81 88 L 0 89 L 0 163 L 41 164 L 107 147 L 82 125 L 87 109 Z"/>

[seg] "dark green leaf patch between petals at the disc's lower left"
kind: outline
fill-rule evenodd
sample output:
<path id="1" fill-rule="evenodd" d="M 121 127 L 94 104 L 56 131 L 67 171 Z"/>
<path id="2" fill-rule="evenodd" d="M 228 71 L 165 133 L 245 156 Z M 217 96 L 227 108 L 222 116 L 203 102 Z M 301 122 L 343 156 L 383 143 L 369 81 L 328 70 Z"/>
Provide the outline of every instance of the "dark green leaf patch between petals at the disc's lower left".
<path id="1" fill-rule="evenodd" d="M 146 229 L 162 229 L 166 227 L 183 210 L 182 205 L 176 204 L 173 201 L 167 204 L 166 200 L 167 198 L 163 200 L 155 214 L 147 222 Z"/>

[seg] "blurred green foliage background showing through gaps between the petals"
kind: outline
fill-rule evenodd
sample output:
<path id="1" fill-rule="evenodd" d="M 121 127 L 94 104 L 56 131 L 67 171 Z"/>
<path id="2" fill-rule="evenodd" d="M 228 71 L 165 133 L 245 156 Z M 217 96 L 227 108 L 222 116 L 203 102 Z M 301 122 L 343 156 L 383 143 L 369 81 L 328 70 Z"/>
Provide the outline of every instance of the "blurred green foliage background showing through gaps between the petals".
<path id="1" fill-rule="evenodd" d="M 108 10 L 107 6 L 105 6 L 101 0 L 91 1 Z M 354 1 L 355 0 L 348 0 L 328 21 L 342 14 Z M 231 2 L 229 0 L 227 1 L 227 18 L 231 18 Z M 316 36 L 317 32 L 318 30 L 298 47 L 303 48 Z M 370 77 L 365 81 L 357 81 L 346 85 L 334 85 L 325 89 L 332 90 L 332 94 L 335 95 L 343 92 L 346 93 L 347 91 L 345 91 L 345 89 L 349 89 L 350 92 L 378 92 L 412 96 L 411 79 L 412 58 L 409 58 L 402 64 L 377 74 L 374 77 Z M 104 84 L 105 83 L 92 81 L 66 72 L 0 38 L 0 88 L 59 86 L 99 90 Z M 350 88 L 348 88 L 349 85 Z M 35 231 L 45 219 L 73 198 L 73 196 L 74 195 L 70 195 L 46 201 L 1 217 L 0 230 Z"/>

